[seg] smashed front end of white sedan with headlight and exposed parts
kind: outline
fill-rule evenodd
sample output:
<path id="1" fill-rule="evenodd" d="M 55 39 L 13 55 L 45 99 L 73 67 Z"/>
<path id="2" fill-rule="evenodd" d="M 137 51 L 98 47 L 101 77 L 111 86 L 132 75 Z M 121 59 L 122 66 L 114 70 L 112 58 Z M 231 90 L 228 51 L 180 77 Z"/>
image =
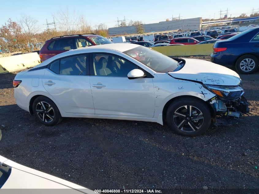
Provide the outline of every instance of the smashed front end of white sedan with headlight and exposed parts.
<path id="1" fill-rule="evenodd" d="M 215 111 L 214 125 L 236 124 L 242 114 L 249 113 L 248 102 L 243 96 L 244 89 L 239 86 L 205 85 L 204 88 L 216 94 L 208 100 Z"/>

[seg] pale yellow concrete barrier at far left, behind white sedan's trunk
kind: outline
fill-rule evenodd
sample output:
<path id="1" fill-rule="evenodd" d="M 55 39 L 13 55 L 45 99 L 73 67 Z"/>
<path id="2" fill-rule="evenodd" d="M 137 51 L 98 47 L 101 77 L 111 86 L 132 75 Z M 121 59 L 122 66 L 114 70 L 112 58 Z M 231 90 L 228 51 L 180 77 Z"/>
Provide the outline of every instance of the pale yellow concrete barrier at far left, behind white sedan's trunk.
<path id="1" fill-rule="evenodd" d="M 12 71 L 26 69 L 28 67 L 34 67 L 39 63 L 40 63 L 40 57 L 36 52 L 14 55 L 10 57 L 1 57 L 0 73 L 12 72 Z"/>

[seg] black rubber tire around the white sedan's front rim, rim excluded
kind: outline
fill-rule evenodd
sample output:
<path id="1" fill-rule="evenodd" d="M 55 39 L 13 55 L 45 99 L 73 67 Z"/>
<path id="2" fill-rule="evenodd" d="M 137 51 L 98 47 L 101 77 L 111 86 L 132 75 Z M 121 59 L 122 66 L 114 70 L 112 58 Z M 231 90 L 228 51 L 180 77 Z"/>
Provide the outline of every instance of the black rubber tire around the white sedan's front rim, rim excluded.
<path id="1" fill-rule="evenodd" d="M 174 124 L 173 122 L 174 112 L 181 106 L 185 106 L 185 105 L 195 106 L 196 108 L 200 109 L 200 111 L 203 113 L 204 121 L 200 129 L 193 132 L 185 132 L 178 129 L 177 126 Z M 166 120 L 170 129 L 176 132 L 177 134 L 185 135 L 185 136 L 196 136 L 196 135 L 205 133 L 209 128 L 211 124 L 211 112 L 209 110 L 208 105 L 202 100 L 193 99 L 193 98 L 182 98 L 182 99 L 173 101 L 171 103 L 171 105 L 167 109 Z"/>

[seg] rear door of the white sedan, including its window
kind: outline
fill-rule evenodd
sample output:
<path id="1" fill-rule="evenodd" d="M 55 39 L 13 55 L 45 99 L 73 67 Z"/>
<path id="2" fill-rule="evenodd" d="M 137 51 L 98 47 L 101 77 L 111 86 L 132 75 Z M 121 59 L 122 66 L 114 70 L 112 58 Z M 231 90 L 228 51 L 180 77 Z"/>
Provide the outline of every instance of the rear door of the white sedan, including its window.
<path id="1" fill-rule="evenodd" d="M 48 65 L 42 83 L 66 113 L 94 114 L 89 55 L 74 55 Z"/>

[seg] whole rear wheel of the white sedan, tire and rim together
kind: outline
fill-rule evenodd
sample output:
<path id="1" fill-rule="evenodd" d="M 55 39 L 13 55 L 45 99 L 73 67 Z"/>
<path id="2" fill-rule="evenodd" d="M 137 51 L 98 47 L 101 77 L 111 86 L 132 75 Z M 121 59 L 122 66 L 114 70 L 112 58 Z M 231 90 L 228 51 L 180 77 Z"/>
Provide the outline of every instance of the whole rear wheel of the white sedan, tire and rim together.
<path id="1" fill-rule="evenodd" d="M 42 124 L 53 126 L 61 121 L 61 115 L 55 103 L 47 97 L 37 97 L 32 105 L 36 119 Z"/>

